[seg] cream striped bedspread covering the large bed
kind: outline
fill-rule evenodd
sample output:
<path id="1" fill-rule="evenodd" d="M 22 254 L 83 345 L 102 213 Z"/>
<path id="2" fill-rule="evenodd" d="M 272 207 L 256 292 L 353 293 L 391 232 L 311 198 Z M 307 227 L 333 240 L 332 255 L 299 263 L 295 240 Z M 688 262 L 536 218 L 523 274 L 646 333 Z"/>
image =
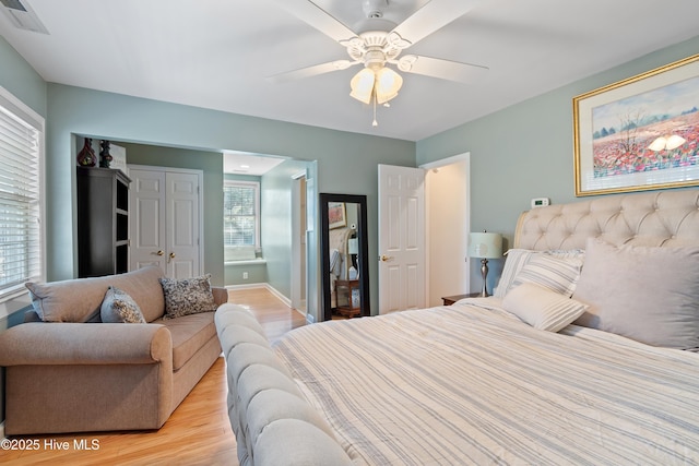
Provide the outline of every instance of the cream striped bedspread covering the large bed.
<path id="1" fill-rule="evenodd" d="M 699 354 L 537 331 L 499 302 L 309 325 L 275 350 L 357 465 L 699 464 Z"/>

